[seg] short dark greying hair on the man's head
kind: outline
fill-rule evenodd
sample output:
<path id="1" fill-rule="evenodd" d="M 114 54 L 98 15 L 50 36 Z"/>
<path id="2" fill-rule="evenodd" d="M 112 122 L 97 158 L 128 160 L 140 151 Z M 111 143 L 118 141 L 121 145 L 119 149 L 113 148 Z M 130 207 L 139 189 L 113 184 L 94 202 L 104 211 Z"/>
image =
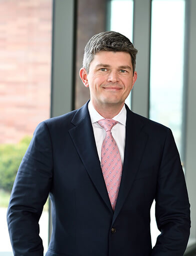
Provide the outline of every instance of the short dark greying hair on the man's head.
<path id="1" fill-rule="evenodd" d="M 87 73 L 94 55 L 100 51 L 129 53 L 134 73 L 137 50 L 125 36 L 117 32 L 105 31 L 91 37 L 84 48 L 83 56 L 83 67 Z"/>

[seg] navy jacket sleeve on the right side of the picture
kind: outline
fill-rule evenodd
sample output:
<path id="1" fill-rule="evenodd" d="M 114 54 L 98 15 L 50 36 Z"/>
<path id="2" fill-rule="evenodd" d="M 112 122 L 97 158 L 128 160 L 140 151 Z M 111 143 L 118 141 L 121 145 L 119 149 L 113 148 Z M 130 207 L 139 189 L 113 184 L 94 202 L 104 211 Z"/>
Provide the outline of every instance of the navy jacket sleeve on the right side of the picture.
<path id="1" fill-rule="evenodd" d="M 179 154 L 169 129 L 157 179 L 155 217 L 161 233 L 151 255 L 182 256 L 189 237 L 189 202 Z"/>

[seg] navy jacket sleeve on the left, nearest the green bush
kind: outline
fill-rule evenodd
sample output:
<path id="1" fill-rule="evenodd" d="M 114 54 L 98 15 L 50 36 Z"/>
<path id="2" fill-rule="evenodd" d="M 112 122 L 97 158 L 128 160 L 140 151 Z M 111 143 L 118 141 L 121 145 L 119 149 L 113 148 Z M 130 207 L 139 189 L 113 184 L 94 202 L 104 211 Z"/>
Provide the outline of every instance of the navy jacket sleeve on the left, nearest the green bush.
<path id="1" fill-rule="evenodd" d="M 42 256 L 38 221 L 52 179 L 52 146 L 47 125 L 40 123 L 19 166 L 7 210 L 15 256 Z"/>

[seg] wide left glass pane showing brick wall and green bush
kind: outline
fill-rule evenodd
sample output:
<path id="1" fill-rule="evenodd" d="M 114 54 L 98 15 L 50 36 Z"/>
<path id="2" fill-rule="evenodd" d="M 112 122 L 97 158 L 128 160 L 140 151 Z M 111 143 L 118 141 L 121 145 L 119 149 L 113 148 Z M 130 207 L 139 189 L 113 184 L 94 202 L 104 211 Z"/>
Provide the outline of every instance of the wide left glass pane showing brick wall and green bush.
<path id="1" fill-rule="evenodd" d="M 50 113 L 52 0 L 0 1 L 0 254 L 11 252 L 6 208 L 35 126 Z M 40 219 L 48 244 L 48 206 Z"/>

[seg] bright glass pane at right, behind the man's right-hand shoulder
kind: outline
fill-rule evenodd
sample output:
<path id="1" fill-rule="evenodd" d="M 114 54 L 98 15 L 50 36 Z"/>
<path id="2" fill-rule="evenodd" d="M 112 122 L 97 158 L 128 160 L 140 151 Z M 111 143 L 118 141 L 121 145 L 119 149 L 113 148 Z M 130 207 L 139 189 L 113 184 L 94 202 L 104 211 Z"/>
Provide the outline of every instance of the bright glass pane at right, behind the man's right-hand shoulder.
<path id="1" fill-rule="evenodd" d="M 173 132 L 182 148 L 184 0 L 152 0 L 149 118 Z M 151 207 L 152 245 L 160 233 Z"/>

